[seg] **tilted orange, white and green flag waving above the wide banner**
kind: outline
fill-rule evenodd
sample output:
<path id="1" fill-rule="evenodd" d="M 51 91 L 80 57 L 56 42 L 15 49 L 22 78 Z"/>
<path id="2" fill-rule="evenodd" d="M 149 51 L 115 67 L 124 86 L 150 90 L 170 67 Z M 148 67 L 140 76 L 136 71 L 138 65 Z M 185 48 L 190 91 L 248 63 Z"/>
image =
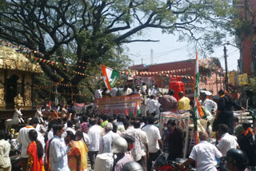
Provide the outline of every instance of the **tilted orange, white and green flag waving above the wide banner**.
<path id="1" fill-rule="evenodd" d="M 119 72 L 107 66 L 102 66 L 102 74 L 106 88 L 111 90 L 118 80 Z"/>

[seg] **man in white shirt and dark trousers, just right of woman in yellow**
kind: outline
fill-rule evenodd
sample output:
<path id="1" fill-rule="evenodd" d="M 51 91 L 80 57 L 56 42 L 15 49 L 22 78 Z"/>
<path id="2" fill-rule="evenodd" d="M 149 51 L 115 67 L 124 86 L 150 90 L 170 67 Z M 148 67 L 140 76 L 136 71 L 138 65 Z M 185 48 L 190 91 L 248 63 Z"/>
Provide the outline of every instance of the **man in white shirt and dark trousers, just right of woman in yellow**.
<path id="1" fill-rule="evenodd" d="M 94 118 L 90 118 L 90 129 L 88 131 L 88 136 L 90 138 L 90 146 L 88 157 L 90 159 L 91 168 L 94 169 L 94 161 L 98 154 L 99 150 L 99 141 L 102 138 L 103 130 L 101 126 L 96 124 L 96 120 Z"/>

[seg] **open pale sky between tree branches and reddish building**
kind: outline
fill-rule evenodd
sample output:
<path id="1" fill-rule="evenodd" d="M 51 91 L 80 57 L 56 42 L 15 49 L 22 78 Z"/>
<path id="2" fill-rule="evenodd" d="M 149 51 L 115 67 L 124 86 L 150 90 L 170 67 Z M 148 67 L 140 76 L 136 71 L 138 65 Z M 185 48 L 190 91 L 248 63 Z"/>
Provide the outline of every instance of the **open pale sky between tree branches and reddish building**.
<path id="1" fill-rule="evenodd" d="M 150 50 L 153 50 L 153 64 L 177 62 L 191 58 L 195 58 L 194 46 L 188 42 L 178 42 L 178 35 L 162 34 L 158 29 L 147 29 L 144 31 L 143 39 L 154 39 L 160 42 L 132 42 L 127 44 L 129 50 L 126 54 L 134 61 L 134 65 L 143 64 L 150 65 Z M 226 38 L 226 42 L 230 41 L 234 44 L 234 37 Z M 238 48 L 234 46 L 226 46 L 228 71 L 238 70 L 238 58 L 240 56 Z M 225 69 L 223 46 L 214 48 L 214 54 L 210 57 L 219 58 L 222 68 Z M 200 53 L 198 58 L 203 58 Z"/>

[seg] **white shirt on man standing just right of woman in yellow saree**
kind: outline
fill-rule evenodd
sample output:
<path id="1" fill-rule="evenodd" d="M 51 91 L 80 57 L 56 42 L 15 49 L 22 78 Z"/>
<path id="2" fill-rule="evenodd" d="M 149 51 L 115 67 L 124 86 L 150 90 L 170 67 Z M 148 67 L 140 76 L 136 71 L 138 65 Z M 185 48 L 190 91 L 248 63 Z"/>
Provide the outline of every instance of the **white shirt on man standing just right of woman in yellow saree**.
<path id="1" fill-rule="evenodd" d="M 99 125 L 93 125 L 88 131 L 88 136 L 90 138 L 89 151 L 99 150 L 99 141 L 102 137 L 102 128 Z"/>

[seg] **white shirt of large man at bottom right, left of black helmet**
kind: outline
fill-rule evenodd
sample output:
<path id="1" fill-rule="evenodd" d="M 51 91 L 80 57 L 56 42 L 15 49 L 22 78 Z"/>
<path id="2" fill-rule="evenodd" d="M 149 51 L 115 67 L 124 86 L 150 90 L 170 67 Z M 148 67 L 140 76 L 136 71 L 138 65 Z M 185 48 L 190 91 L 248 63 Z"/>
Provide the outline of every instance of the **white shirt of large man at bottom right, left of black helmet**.
<path id="1" fill-rule="evenodd" d="M 207 141 L 200 141 L 195 145 L 190 153 L 190 158 L 197 162 L 198 171 L 217 171 L 215 165 L 217 161 L 215 157 L 222 157 L 222 153 L 218 151 L 216 146 Z"/>

